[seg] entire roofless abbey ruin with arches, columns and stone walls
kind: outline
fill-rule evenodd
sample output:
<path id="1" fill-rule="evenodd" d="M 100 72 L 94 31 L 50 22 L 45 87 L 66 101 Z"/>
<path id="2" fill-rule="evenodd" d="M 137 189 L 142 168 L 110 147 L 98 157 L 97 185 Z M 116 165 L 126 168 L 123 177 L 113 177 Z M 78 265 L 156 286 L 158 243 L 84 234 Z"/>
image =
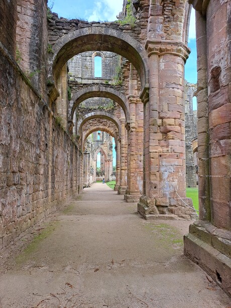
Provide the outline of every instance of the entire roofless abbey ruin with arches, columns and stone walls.
<path id="1" fill-rule="evenodd" d="M 192 6 L 197 84 L 184 80 Z M 231 296 L 231 1 L 125 0 L 128 14 L 85 22 L 46 0 L 0 2 L 0 250 L 114 178 L 146 220 L 195 219 L 184 254 Z M 198 218 L 185 205 L 197 184 Z"/>

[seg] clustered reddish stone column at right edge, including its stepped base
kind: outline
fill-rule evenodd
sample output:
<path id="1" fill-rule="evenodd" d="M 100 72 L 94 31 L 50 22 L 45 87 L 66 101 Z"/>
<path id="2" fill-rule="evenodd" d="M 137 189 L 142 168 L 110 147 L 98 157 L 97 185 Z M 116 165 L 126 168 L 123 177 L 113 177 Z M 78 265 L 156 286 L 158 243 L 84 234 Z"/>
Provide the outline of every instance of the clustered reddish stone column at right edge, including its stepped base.
<path id="1" fill-rule="evenodd" d="M 190 1 L 196 12 L 199 220 L 184 253 L 231 295 L 231 3 Z"/>

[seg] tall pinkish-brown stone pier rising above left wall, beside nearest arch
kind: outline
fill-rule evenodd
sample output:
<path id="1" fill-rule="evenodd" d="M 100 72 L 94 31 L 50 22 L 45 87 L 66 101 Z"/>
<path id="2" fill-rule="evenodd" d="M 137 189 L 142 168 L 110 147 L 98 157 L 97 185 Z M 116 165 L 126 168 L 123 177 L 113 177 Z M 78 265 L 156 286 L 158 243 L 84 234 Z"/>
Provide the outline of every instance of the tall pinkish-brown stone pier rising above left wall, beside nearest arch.
<path id="1" fill-rule="evenodd" d="M 18 63 L 46 99 L 47 88 L 47 1 L 18 0 Z"/>

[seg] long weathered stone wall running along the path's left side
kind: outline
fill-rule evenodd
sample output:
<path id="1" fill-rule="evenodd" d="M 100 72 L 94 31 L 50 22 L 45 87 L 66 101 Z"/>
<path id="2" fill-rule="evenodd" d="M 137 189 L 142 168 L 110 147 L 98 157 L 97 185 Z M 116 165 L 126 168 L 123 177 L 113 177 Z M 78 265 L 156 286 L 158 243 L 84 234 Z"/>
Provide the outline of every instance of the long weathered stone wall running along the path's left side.
<path id="1" fill-rule="evenodd" d="M 0 249 L 82 187 L 81 153 L 0 50 Z"/>

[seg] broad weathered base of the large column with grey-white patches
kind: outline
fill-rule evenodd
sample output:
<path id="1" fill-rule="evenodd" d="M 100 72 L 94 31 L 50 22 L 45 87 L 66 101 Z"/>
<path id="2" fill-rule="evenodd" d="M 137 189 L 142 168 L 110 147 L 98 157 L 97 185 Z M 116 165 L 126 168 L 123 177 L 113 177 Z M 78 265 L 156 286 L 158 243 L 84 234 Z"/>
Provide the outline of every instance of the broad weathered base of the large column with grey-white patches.
<path id="1" fill-rule="evenodd" d="M 193 208 L 190 198 L 182 200 Z M 140 197 L 138 212 L 146 219 L 196 219 L 197 214 L 182 202 L 180 198 L 150 198 L 146 195 Z M 153 217 L 152 217 L 153 216 Z"/>

